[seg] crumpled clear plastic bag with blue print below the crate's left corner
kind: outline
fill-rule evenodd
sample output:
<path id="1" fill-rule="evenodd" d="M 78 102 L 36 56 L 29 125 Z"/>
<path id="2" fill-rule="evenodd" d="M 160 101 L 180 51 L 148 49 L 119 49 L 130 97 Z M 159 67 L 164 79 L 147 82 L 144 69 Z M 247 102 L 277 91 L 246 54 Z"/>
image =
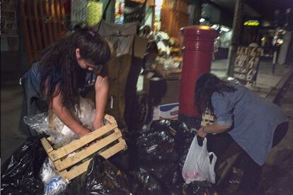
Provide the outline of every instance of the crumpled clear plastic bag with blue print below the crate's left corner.
<path id="1" fill-rule="evenodd" d="M 54 169 L 54 165 L 49 158 L 42 164 L 40 178 L 45 185 L 44 195 L 60 194 L 67 187 L 67 184 L 62 180 L 57 170 Z"/>

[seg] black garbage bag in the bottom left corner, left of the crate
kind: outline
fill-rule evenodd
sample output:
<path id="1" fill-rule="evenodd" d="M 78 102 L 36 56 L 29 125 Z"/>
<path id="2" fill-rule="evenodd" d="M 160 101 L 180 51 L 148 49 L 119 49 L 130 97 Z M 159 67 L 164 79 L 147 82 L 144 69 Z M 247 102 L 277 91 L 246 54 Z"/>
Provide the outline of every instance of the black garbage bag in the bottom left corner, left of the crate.
<path id="1" fill-rule="evenodd" d="M 1 194 L 43 194 L 40 168 L 47 153 L 42 136 L 28 138 L 1 167 Z"/>

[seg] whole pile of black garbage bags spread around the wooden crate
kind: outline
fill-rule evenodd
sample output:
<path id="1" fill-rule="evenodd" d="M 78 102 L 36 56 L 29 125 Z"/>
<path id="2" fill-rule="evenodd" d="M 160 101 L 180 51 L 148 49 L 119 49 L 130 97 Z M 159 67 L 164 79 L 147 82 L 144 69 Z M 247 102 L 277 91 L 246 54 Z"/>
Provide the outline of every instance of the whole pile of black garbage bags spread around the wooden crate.
<path id="1" fill-rule="evenodd" d="M 208 182 L 183 180 L 182 168 L 194 136 L 178 121 L 153 122 L 147 131 L 125 137 L 127 150 L 108 160 L 94 155 L 84 174 L 52 194 L 214 194 Z M 40 174 L 46 158 L 40 136 L 28 138 L 1 167 L 1 193 L 46 194 Z"/>

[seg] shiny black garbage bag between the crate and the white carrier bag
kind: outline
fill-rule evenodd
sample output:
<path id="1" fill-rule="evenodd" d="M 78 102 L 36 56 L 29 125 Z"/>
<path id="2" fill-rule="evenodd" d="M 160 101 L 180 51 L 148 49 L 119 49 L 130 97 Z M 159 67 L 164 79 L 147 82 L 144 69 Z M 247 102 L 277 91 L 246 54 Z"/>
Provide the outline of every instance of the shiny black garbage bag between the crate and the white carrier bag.
<path id="1" fill-rule="evenodd" d="M 154 131 L 137 138 L 138 159 L 142 162 L 176 162 L 174 138 L 166 131 Z"/>

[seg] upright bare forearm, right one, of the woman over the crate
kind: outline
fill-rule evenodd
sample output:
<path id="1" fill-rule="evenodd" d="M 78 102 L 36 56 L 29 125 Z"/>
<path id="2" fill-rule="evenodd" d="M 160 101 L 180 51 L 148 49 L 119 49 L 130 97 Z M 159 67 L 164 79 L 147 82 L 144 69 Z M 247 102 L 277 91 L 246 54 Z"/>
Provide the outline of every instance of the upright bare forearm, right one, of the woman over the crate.
<path id="1" fill-rule="evenodd" d="M 103 118 L 105 115 L 105 107 L 108 100 L 109 83 L 108 77 L 97 76 L 95 83 L 96 90 L 96 114 L 93 119 L 93 129 L 103 126 Z"/>

